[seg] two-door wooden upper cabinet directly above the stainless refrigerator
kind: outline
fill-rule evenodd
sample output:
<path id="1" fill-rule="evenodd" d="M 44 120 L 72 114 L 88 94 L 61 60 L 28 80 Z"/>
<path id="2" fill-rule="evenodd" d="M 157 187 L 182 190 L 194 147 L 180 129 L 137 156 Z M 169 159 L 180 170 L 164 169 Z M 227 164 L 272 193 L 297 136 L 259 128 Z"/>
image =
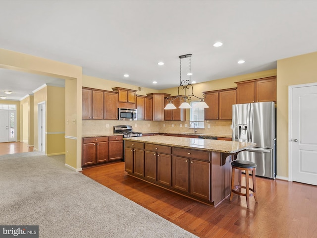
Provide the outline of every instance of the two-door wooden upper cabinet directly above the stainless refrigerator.
<path id="1" fill-rule="evenodd" d="M 276 76 L 236 82 L 237 104 L 276 102 Z"/>

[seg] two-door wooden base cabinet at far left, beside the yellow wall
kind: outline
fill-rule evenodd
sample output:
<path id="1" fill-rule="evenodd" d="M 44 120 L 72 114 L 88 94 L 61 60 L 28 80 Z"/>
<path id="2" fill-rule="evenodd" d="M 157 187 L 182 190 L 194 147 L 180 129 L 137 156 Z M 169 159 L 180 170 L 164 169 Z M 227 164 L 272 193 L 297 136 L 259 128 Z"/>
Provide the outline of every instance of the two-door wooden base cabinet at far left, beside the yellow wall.
<path id="1" fill-rule="evenodd" d="M 82 166 L 108 161 L 108 137 L 83 138 L 82 143 Z"/>

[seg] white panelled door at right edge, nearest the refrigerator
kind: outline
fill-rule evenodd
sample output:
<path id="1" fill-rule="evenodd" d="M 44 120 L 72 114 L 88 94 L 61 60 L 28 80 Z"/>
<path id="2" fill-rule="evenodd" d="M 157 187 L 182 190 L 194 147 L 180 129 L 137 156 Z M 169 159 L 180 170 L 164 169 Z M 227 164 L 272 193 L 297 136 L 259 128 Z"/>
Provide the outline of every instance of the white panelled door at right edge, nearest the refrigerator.
<path id="1" fill-rule="evenodd" d="M 292 180 L 317 185 L 317 86 L 292 88 Z"/>

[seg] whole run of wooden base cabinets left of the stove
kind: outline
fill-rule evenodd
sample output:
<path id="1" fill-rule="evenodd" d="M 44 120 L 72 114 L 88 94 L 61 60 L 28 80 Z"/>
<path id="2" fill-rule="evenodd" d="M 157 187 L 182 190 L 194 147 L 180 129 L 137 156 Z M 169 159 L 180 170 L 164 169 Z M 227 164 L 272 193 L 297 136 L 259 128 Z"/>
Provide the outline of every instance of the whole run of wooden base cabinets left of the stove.
<path id="1" fill-rule="evenodd" d="M 123 159 L 123 137 L 99 136 L 82 139 L 82 166 Z"/>

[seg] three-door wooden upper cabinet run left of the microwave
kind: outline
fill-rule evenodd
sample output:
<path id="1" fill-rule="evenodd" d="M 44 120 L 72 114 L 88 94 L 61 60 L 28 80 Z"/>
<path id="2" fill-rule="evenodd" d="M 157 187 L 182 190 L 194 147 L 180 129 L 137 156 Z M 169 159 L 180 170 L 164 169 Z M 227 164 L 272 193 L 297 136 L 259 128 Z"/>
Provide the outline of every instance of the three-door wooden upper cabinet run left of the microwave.
<path id="1" fill-rule="evenodd" d="M 82 119 L 118 119 L 118 93 L 83 87 Z"/>

